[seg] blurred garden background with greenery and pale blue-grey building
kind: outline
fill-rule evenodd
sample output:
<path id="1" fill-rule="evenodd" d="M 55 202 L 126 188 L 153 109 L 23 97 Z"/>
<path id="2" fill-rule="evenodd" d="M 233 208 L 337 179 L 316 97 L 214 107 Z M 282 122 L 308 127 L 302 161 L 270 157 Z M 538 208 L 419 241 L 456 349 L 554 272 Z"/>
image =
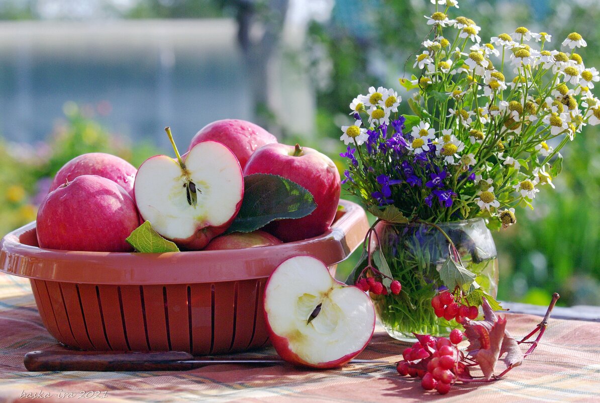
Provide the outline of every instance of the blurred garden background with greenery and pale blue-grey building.
<path id="1" fill-rule="evenodd" d="M 558 48 L 577 31 L 586 66 L 600 65 L 595 0 L 459 5 L 452 16 L 475 20 L 484 41 L 526 26 Z M 251 120 L 343 171 L 350 101 L 371 85 L 400 90 L 431 10 L 429 0 L 0 0 L 1 234 L 35 219 L 72 157 L 104 151 L 139 166 L 169 152 L 167 124 L 185 148 L 212 120 Z M 494 234 L 500 299 L 545 305 L 557 291 L 562 305 L 600 305 L 598 130 L 568 145 L 557 189 Z"/>

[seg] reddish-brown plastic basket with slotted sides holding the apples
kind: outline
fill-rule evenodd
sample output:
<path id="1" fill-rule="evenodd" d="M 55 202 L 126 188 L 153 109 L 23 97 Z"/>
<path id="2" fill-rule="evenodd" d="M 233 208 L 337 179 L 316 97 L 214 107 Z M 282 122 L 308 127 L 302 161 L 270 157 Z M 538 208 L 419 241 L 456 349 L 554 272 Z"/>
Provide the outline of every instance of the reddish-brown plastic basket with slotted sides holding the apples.
<path id="1" fill-rule="evenodd" d="M 335 270 L 368 230 L 359 205 L 341 201 L 319 237 L 238 250 L 106 253 L 41 249 L 35 223 L 0 241 L 0 270 L 28 277 L 44 326 L 81 350 L 215 354 L 268 344 L 263 291 L 296 255 Z"/>

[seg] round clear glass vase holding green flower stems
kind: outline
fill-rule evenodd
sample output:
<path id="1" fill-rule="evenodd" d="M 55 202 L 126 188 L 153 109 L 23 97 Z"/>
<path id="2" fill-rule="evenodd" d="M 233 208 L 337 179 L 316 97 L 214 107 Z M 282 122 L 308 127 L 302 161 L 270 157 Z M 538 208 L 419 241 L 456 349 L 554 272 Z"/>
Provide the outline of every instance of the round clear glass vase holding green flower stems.
<path id="1" fill-rule="evenodd" d="M 495 298 L 498 284 L 496 245 L 484 220 L 437 223 L 437 226 L 451 238 L 464 267 L 477 276 L 475 281 Z M 431 306 L 431 298 L 445 289 L 439 271 L 450 253 L 448 238 L 425 223 L 382 221 L 377 223 L 375 232 L 377 237 L 373 238 L 378 238 L 379 244 L 371 256 L 377 258 L 381 253 L 393 279 L 402 285 L 398 295 L 371 293 L 383 327 L 390 336 L 404 341 L 415 340 L 413 332 L 448 336 L 460 324 L 436 317 Z"/>

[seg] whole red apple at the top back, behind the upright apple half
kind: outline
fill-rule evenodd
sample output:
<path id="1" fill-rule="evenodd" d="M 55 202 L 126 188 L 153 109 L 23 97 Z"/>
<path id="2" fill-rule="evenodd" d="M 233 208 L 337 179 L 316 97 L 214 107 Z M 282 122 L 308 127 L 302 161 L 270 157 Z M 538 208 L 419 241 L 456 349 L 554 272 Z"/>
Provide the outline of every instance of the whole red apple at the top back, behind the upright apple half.
<path id="1" fill-rule="evenodd" d="M 257 148 L 277 142 L 277 138 L 262 127 L 238 119 L 217 120 L 207 124 L 191 140 L 188 151 L 205 140 L 218 141 L 229 147 L 242 169 Z"/>

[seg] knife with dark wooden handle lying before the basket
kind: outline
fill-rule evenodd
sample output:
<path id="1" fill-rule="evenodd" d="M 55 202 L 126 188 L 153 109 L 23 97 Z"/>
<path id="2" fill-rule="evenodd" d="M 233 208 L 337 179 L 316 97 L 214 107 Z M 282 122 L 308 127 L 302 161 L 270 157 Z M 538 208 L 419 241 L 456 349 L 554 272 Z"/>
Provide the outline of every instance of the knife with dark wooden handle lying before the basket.
<path id="1" fill-rule="evenodd" d="M 28 371 L 188 371 L 214 364 L 274 365 L 278 357 L 214 356 L 194 358 L 184 351 L 31 351 L 23 360 Z M 352 360 L 351 364 L 388 364 L 379 360 Z"/>

